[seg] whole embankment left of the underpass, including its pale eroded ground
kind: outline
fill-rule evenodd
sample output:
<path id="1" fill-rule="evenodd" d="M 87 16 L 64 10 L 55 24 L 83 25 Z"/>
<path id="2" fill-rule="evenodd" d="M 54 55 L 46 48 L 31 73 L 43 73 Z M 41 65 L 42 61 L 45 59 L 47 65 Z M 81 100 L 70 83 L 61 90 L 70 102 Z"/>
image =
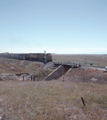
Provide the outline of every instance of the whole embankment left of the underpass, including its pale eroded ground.
<path id="1" fill-rule="evenodd" d="M 41 62 L 0 58 L 0 81 L 2 80 L 42 80 L 52 70 L 52 63 L 44 65 Z"/>

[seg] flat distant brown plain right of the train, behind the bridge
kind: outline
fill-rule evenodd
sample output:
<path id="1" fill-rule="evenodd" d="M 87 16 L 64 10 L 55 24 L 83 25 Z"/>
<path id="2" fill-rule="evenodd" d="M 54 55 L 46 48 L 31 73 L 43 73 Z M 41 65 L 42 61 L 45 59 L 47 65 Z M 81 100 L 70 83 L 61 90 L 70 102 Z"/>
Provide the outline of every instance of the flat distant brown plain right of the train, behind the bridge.
<path id="1" fill-rule="evenodd" d="M 80 64 L 90 64 L 97 66 L 107 65 L 107 54 L 53 54 L 55 62 L 71 62 Z"/>

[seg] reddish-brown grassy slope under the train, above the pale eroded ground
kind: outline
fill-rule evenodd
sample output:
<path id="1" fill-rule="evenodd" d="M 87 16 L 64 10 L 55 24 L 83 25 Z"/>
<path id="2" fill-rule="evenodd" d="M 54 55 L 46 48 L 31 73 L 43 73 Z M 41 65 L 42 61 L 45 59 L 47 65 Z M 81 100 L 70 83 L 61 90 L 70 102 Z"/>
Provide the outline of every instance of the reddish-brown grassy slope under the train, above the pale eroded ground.
<path id="1" fill-rule="evenodd" d="M 43 63 L 40 62 L 0 58 L 0 73 L 33 73 L 36 80 L 42 80 L 51 71 L 43 69 Z"/>

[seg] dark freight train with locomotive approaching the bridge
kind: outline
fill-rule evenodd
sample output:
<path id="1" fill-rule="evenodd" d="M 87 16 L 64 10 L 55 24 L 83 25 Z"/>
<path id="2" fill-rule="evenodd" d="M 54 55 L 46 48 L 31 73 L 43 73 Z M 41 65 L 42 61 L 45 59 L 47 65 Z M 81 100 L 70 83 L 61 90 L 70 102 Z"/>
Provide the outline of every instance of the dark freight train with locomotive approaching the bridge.
<path id="1" fill-rule="evenodd" d="M 0 57 L 18 60 L 30 60 L 39 62 L 50 62 L 52 61 L 52 55 L 50 53 L 0 53 Z"/>

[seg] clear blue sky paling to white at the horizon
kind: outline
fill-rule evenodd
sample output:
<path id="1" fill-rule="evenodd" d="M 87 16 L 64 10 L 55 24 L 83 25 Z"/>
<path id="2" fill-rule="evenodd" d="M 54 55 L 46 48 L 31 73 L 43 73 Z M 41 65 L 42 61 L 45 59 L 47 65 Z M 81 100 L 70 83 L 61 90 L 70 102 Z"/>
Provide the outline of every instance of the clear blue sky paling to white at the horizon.
<path id="1" fill-rule="evenodd" d="M 107 0 L 0 0 L 0 53 L 107 54 Z"/>

